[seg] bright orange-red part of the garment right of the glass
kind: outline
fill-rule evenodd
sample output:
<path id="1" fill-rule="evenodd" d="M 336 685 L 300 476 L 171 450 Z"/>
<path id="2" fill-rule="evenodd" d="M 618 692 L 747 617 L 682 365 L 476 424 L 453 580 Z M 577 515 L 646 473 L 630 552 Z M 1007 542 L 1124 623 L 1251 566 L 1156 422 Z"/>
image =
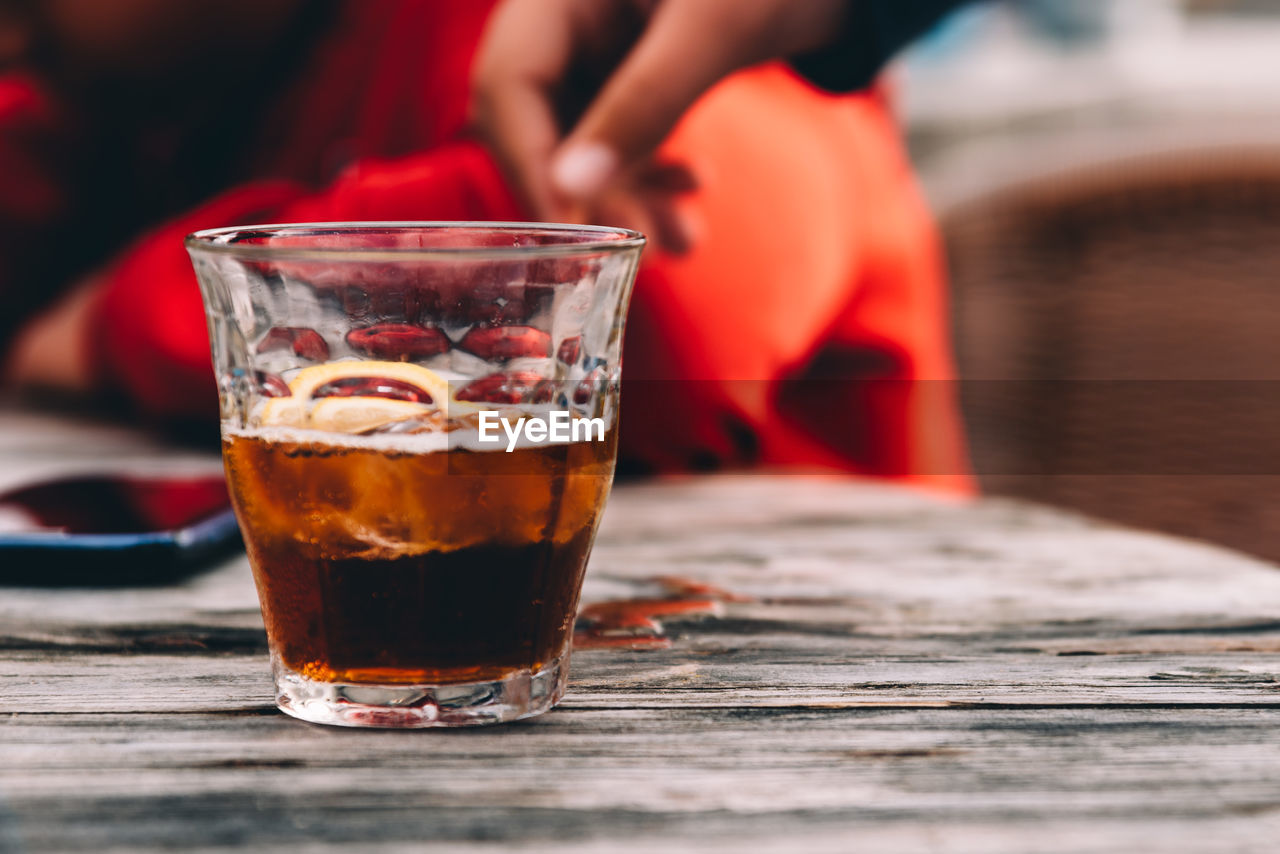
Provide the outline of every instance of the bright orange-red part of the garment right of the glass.
<path id="1" fill-rule="evenodd" d="M 630 447 L 667 467 L 969 490 L 942 254 L 883 99 L 758 68 L 699 101 L 664 154 L 701 182 L 687 201 L 701 241 L 641 274 L 625 410 L 654 421 L 625 434 Z"/>

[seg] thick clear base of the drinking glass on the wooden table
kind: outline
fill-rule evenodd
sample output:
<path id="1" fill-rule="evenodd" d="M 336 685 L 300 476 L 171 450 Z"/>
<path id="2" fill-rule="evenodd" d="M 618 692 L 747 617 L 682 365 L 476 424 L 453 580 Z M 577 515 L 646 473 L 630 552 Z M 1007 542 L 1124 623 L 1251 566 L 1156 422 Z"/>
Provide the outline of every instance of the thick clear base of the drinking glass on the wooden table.
<path id="1" fill-rule="evenodd" d="M 364 685 L 317 682 L 274 656 L 275 704 L 311 723 L 384 729 L 484 726 L 541 714 L 564 697 L 568 656 L 486 682 Z"/>

